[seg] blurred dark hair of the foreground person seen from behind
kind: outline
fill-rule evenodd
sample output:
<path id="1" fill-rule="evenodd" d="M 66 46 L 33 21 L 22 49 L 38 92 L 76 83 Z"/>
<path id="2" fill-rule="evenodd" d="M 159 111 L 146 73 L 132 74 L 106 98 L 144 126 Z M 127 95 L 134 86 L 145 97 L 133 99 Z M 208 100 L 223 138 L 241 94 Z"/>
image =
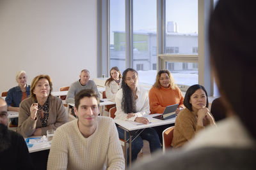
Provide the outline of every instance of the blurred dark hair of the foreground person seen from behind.
<path id="1" fill-rule="evenodd" d="M 255 2 L 219 1 L 209 23 L 211 65 L 221 96 L 256 138 Z M 225 104 L 225 106 L 227 105 Z"/>

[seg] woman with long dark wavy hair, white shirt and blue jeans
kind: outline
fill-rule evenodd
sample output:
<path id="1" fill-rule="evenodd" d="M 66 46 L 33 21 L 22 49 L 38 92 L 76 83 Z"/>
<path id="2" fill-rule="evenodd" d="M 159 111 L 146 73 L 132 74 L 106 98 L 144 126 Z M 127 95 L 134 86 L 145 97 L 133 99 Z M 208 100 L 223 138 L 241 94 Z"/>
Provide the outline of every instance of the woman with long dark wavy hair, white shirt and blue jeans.
<path id="1" fill-rule="evenodd" d="M 115 119 L 131 120 L 141 124 L 148 124 L 146 115 L 150 113 L 148 92 L 138 86 L 138 73 L 134 69 L 125 69 L 122 79 L 122 89 L 118 90 L 115 97 Z M 117 127 L 119 138 L 124 139 L 124 130 Z M 127 136 L 129 134 L 127 133 Z M 134 137 L 136 137 L 134 139 Z M 143 139 L 149 142 L 150 152 L 161 148 L 157 132 L 152 128 L 137 131 L 132 136 L 132 161 L 136 160 L 143 147 Z"/>

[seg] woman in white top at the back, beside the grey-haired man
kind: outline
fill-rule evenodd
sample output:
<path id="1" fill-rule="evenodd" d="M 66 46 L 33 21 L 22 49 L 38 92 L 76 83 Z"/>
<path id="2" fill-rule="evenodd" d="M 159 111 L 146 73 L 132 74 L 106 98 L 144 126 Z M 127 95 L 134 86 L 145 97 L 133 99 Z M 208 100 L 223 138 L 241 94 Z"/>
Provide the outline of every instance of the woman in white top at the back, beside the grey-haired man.
<path id="1" fill-rule="evenodd" d="M 106 97 L 110 100 L 115 100 L 116 92 L 121 88 L 122 74 L 118 67 L 110 69 L 110 78 L 106 80 Z"/>

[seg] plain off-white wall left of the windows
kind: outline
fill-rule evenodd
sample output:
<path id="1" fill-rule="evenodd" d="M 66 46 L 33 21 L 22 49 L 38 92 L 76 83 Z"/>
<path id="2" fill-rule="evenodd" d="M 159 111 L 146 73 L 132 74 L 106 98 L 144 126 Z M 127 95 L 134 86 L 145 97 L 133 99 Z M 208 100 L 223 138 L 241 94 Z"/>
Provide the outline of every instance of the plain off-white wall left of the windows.
<path id="1" fill-rule="evenodd" d="M 79 79 L 82 69 L 97 76 L 96 0 L 0 0 L 0 92 L 49 74 L 53 90 Z"/>

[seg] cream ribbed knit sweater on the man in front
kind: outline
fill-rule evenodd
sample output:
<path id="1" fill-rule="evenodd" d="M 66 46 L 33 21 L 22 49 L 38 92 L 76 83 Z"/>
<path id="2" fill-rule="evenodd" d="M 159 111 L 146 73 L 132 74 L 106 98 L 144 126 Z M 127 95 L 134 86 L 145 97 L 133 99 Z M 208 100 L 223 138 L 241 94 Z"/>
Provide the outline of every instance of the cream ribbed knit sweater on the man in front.
<path id="1" fill-rule="evenodd" d="M 47 169 L 125 169 L 124 153 L 112 118 L 98 117 L 88 138 L 77 120 L 59 127 L 52 139 Z"/>

